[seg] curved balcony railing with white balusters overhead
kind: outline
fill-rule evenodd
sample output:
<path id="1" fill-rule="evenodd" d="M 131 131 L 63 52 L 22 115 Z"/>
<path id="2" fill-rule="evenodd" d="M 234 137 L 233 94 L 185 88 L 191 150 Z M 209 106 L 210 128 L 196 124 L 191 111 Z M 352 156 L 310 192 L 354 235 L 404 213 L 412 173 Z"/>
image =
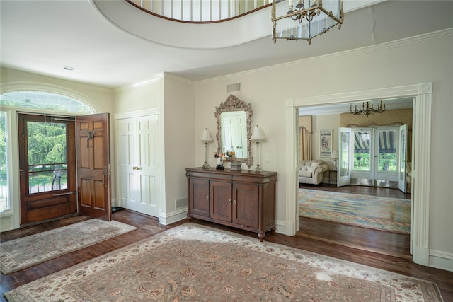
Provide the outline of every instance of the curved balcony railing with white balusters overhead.
<path id="1" fill-rule="evenodd" d="M 272 0 L 126 0 L 155 16 L 179 22 L 212 23 L 272 5 Z"/>

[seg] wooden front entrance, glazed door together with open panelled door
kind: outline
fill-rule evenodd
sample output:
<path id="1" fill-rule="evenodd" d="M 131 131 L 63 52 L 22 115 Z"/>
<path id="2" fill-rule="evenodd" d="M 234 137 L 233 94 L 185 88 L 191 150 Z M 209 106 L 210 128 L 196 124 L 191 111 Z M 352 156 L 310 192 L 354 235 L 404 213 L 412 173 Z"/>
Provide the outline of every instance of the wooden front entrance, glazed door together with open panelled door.
<path id="1" fill-rule="evenodd" d="M 18 114 L 21 225 L 77 213 L 111 219 L 108 114 L 76 120 Z"/>

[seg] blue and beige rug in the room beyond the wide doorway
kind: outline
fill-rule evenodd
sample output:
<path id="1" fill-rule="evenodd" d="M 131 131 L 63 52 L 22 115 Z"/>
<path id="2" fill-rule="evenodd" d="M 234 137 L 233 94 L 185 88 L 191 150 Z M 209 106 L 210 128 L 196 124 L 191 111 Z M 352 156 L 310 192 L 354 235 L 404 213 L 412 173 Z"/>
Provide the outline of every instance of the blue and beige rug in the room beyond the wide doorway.
<path id="1" fill-rule="evenodd" d="M 411 200 L 299 189 L 299 215 L 381 231 L 411 231 Z"/>

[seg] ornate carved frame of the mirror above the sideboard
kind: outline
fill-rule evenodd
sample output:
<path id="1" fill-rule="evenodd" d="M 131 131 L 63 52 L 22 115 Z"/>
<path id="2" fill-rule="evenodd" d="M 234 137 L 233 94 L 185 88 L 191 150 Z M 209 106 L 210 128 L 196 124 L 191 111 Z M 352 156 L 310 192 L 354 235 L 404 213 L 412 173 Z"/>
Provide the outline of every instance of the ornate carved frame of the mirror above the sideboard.
<path id="1" fill-rule="evenodd" d="M 252 105 L 250 103 L 245 103 L 243 100 L 239 100 L 236 98 L 235 95 L 229 95 L 226 98 L 225 102 L 220 103 L 219 107 L 215 108 L 214 116 L 217 120 L 217 154 L 222 152 L 222 127 L 220 123 L 220 115 L 222 112 L 230 112 L 230 111 L 245 111 L 247 117 L 247 157 L 246 158 L 234 158 L 236 163 L 245 163 L 248 168 L 251 167 L 253 158 L 252 158 L 252 151 L 251 151 L 251 123 L 252 123 Z M 225 158 L 226 161 L 232 161 L 232 158 Z"/>

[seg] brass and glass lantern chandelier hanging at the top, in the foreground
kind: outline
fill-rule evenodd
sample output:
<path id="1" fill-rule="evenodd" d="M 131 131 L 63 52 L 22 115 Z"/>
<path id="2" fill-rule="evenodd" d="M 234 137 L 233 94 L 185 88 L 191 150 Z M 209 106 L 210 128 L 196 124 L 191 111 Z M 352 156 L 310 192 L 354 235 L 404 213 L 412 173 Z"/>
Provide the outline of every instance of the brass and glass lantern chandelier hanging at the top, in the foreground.
<path id="1" fill-rule="evenodd" d="M 343 24 L 342 0 L 273 0 L 272 38 L 277 39 L 307 40 L 326 33 L 333 26 L 341 28 Z M 289 11 L 287 11 L 287 5 Z"/>

